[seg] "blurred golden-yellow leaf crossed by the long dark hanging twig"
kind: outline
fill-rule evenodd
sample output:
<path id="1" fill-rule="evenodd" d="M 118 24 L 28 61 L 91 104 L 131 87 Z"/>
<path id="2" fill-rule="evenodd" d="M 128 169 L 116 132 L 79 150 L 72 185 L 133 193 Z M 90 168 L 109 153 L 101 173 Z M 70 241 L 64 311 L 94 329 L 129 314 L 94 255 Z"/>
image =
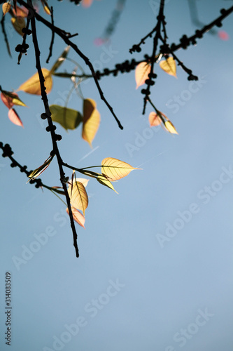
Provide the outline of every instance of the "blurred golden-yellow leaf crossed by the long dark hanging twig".
<path id="1" fill-rule="evenodd" d="M 52 77 L 50 75 L 50 71 L 46 68 L 42 68 L 42 73 L 45 79 L 44 84 L 46 93 L 48 94 L 52 90 Z M 38 72 L 36 72 L 31 78 L 21 84 L 17 91 L 24 91 L 25 93 L 33 95 L 41 95 L 41 84 L 38 77 Z"/>

